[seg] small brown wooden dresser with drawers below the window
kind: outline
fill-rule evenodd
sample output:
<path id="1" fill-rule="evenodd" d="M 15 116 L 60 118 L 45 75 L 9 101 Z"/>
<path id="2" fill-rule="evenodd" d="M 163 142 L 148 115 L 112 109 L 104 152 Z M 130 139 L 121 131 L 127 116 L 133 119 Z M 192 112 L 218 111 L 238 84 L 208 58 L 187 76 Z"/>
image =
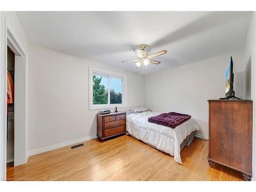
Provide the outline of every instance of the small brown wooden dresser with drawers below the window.
<path id="1" fill-rule="evenodd" d="M 126 133 L 126 113 L 97 114 L 97 136 L 103 141 Z"/>

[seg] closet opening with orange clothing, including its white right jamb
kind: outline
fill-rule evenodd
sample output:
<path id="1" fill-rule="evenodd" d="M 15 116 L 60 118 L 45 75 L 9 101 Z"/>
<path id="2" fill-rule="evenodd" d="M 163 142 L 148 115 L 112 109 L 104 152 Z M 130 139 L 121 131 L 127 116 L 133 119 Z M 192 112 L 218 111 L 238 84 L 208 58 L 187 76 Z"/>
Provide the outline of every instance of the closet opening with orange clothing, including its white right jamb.
<path id="1" fill-rule="evenodd" d="M 27 162 L 26 56 L 8 32 L 6 45 L 5 168 Z M 7 170 L 7 169 L 6 169 Z"/>

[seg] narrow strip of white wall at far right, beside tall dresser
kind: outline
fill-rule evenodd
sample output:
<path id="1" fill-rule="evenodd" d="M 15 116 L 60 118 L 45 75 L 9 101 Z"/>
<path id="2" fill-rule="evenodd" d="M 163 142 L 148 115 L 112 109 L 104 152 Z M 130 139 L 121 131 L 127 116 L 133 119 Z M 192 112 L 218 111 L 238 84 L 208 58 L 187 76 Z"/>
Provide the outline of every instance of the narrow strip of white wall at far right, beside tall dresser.
<path id="1" fill-rule="evenodd" d="M 252 125 L 252 179 L 256 180 L 256 13 L 251 15 L 244 50 L 244 62 L 251 63 L 251 99 L 253 100 Z"/>

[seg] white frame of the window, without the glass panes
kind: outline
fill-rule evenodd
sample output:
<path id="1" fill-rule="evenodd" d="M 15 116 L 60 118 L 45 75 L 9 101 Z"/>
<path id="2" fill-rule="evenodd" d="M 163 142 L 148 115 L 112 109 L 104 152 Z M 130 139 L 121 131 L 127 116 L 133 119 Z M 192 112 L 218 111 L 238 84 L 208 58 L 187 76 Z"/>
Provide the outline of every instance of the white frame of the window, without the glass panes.
<path id="1" fill-rule="evenodd" d="M 109 86 L 110 90 L 110 77 L 120 78 L 122 79 L 122 103 L 121 104 L 110 104 L 110 92 L 108 92 L 108 103 L 109 104 L 93 104 L 93 74 L 99 74 L 109 77 Z M 117 106 L 117 108 L 126 108 L 126 75 L 113 73 L 110 71 L 105 71 L 101 69 L 96 69 L 89 67 L 89 110 L 98 110 L 98 109 L 113 109 Z"/>

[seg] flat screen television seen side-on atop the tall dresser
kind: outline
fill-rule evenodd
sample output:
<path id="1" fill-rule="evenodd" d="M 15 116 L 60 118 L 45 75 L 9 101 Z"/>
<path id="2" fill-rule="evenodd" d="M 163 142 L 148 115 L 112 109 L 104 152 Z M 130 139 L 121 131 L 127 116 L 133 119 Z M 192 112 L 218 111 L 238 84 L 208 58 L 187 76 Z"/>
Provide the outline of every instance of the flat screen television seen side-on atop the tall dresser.
<path id="1" fill-rule="evenodd" d="M 234 82 L 234 74 L 233 74 L 233 59 L 230 57 L 227 69 L 226 69 L 226 92 L 225 92 L 225 98 L 220 99 L 239 99 L 238 97 L 234 96 L 234 90 L 233 90 L 233 82 Z"/>

